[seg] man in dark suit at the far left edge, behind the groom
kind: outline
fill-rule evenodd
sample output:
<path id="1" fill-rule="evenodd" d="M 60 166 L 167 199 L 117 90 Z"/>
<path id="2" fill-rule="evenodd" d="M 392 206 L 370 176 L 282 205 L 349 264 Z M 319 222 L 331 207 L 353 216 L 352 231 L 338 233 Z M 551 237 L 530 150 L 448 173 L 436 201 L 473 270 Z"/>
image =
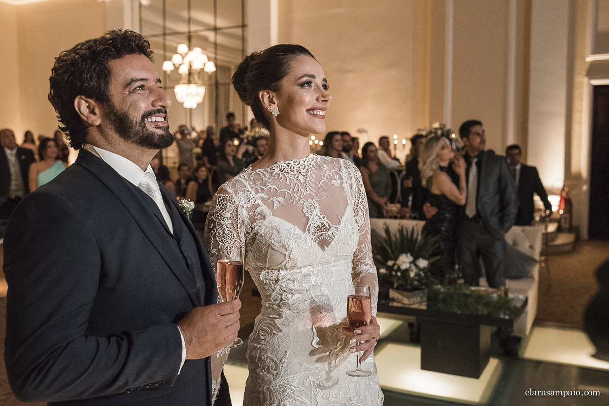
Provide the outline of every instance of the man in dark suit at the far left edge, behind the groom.
<path id="1" fill-rule="evenodd" d="M 7 219 L 30 192 L 30 164 L 36 159 L 32 150 L 17 146 L 12 129 L 0 129 L 0 143 L 0 219 Z"/>

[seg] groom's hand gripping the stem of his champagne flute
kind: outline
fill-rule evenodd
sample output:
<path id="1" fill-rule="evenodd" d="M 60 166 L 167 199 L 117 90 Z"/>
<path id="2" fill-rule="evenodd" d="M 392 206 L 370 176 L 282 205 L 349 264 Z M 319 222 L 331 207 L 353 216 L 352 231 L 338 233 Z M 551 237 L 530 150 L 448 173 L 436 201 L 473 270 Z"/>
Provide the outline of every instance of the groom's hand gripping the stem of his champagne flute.
<path id="1" fill-rule="evenodd" d="M 201 359 L 216 353 L 237 338 L 239 299 L 194 308 L 178 322 L 186 344 L 186 359 Z"/>

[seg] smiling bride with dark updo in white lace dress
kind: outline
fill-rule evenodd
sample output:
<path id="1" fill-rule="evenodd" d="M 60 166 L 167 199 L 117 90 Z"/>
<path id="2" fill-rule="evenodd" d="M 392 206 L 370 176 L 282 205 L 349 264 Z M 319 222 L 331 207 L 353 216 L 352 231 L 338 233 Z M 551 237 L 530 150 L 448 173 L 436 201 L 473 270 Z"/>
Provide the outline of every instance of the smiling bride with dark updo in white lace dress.
<path id="1" fill-rule="evenodd" d="M 205 232 L 211 263 L 241 250 L 262 296 L 244 404 L 381 405 L 372 355 L 379 325 L 375 317 L 356 331 L 347 324 L 353 284 L 370 286 L 376 314 L 364 185 L 348 160 L 309 149 L 309 135 L 326 130 L 323 69 L 305 47 L 280 44 L 246 57 L 233 86 L 270 131 L 267 153 L 217 191 Z M 356 351 L 370 377 L 347 376 Z"/>

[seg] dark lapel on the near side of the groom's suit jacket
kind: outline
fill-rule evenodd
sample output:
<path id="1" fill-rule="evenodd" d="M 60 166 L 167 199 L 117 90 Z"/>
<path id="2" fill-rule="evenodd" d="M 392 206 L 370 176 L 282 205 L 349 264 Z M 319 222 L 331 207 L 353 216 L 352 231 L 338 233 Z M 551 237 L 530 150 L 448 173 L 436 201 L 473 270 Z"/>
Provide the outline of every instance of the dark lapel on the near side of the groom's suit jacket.
<path id="1" fill-rule="evenodd" d="M 111 193 L 121 202 L 125 209 L 130 213 L 138 224 L 142 233 L 157 249 L 167 267 L 171 269 L 175 277 L 178 278 L 186 292 L 188 292 L 192 303 L 199 304 L 199 300 L 190 289 L 195 284 L 194 276 L 185 264 L 181 253 L 175 249 L 172 236 L 167 235 L 169 231 L 161 216 L 160 210 L 146 193 L 139 190 L 133 184 L 114 171 L 104 160 L 94 156 L 89 151 L 80 150 L 75 165 L 81 165 L 90 171 L 97 179 L 104 184 Z M 156 209 L 156 210 L 155 210 Z M 150 214 L 154 213 L 155 221 L 150 221 Z M 158 214 L 157 214 L 158 212 Z"/>

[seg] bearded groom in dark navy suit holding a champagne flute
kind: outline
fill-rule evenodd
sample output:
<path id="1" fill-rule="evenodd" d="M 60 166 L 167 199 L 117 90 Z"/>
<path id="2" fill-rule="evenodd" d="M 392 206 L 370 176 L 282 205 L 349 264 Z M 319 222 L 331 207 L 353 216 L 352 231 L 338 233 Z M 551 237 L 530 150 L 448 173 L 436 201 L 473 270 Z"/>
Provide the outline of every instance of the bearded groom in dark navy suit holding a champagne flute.
<path id="1" fill-rule="evenodd" d="M 241 303 L 216 304 L 194 227 L 154 179 L 150 160 L 173 139 L 151 61 L 128 30 L 55 58 L 49 101 L 80 151 L 5 233 L 4 357 L 22 401 L 211 404 L 209 356 L 236 337 Z"/>

